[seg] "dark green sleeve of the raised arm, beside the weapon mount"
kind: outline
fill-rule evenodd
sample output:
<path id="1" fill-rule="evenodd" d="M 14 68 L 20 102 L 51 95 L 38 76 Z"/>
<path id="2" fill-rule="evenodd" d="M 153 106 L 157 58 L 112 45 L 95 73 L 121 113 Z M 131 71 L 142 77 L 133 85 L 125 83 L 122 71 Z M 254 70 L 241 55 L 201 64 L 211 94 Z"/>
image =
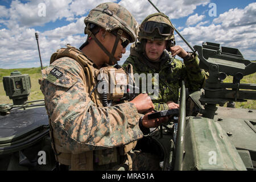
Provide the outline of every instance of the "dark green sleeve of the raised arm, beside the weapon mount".
<path id="1" fill-rule="evenodd" d="M 191 60 L 184 59 L 184 75 L 183 78 L 189 92 L 195 92 L 201 89 L 205 81 L 205 72 L 199 68 L 199 58 L 193 57 Z"/>

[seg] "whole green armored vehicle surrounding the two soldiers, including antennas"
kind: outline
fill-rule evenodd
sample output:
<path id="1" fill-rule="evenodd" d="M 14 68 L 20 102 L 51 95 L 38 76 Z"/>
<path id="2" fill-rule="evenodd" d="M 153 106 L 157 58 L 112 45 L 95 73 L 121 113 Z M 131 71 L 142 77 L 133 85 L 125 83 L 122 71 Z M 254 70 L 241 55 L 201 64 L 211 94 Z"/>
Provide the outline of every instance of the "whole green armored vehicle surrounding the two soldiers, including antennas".
<path id="1" fill-rule="evenodd" d="M 240 83 L 243 76 L 256 72 L 256 63 L 245 60 L 238 49 L 217 43 L 189 47 L 197 51 L 200 68 L 209 72 L 204 89 L 187 96 L 183 81 L 179 110 L 151 114 L 152 119 L 172 118 L 139 140 L 135 150 L 158 155 L 164 171 L 255 170 L 256 110 L 232 106 L 256 100 L 256 84 Z M 227 75 L 232 83 L 223 82 Z M 15 71 L 3 77 L 3 86 L 13 104 L 0 105 L 0 170 L 59 169 L 44 101 L 27 102 L 30 77 Z M 226 102 L 231 107 L 223 107 Z"/>

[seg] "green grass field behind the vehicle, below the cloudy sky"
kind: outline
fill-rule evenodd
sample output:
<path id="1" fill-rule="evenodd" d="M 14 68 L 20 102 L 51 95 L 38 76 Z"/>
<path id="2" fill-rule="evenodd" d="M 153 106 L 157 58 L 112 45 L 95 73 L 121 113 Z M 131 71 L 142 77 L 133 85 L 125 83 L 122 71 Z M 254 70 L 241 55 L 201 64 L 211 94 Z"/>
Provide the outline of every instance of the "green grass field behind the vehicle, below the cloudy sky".
<path id="1" fill-rule="evenodd" d="M 41 77 L 41 68 L 19 68 L 19 69 L 1 69 L 0 68 L 0 104 L 8 104 L 13 101 L 6 96 L 3 89 L 3 76 L 10 76 L 13 71 L 20 71 L 22 74 L 29 74 L 31 79 L 31 93 L 28 96 L 28 101 L 40 100 L 44 96 L 40 90 L 38 79 Z M 224 82 L 232 82 L 232 77 L 227 77 Z M 243 77 L 241 83 L 256 84 L 256 73 Z M 236 107 L 256 109 L 256 101 L 248 100 L 247 102 L 236 102 Z"/>

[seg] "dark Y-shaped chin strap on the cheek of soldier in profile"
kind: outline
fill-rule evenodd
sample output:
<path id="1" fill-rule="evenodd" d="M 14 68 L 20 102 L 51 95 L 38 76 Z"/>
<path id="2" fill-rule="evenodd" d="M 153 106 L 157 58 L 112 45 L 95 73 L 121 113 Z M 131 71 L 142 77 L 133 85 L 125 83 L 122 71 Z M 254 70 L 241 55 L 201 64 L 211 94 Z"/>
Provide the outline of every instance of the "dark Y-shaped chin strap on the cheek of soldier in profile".
<path id="1" fill-rule="evenodd" d="M 102 51 L 104 51 L 106 53 L 106 55 L 109 56 L 109 64 L 112 64 L 112 63 L 117 64 L 117 60 L 115 60 L 114 53 L 115 53 L 115 51 L 117 49 L 117 45 L 118 45 L 120 36 L 122 35 L 123 31 L 122 30 L 118 30 L 118 34 L 117 34 L 117 36 L 115 38 L 114 47 L 113 47 L 111 53 L 101 44 L 101 42 L 96 38 L 96 36 L 92 34 L 92 32 L 88 29 L 88 27 L 86 27 L 85 31 L 86 31 L 86 33 L 88 34 L 89 37 L 92 37 L 95 40 L 95 42 L 98 44 L 98 46 L 100 46 Z M 120 35 L 120 33 L 121 33 L 121 35 Z"/>

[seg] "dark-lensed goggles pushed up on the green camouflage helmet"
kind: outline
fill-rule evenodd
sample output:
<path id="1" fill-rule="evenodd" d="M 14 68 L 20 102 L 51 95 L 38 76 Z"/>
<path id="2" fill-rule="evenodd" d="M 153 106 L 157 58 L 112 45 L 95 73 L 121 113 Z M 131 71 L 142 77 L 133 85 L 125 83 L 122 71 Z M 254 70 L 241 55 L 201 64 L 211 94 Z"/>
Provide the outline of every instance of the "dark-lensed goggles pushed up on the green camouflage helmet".
<path id="1" fill-rule="evenodd" d="M 141 25 L 142 31 L 144 31 L 148 34 L 154 32 L 155 28 L 158 28 L 159 34 L 163 35 L 163 36 L 172 35 L 174 32 L 174 28 L 172 28 L 167 23 L 148 21 L 148 22 L 142 23 L 142 25 Z"/>

